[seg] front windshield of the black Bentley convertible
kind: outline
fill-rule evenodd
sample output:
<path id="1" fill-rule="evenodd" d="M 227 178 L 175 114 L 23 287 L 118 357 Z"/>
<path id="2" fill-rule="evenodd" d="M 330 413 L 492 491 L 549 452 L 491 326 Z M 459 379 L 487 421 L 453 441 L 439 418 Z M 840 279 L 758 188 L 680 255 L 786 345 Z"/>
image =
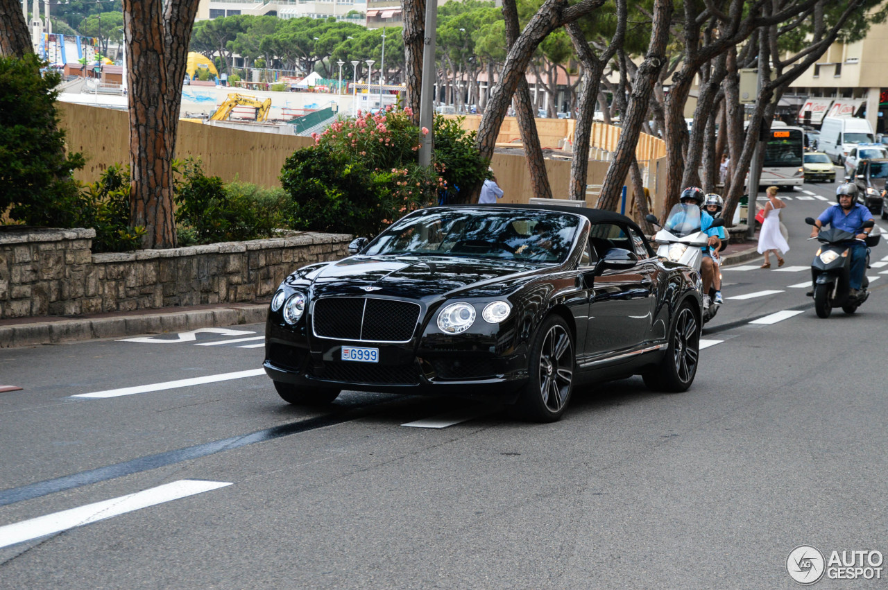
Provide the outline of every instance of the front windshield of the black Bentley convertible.
<path id="1" fill-rule="evenodd" d="M 580 217 L 505 208 L 427 209 L 379 234 L 368 256 L 505 258 L 557 263 L 567 258 Z"/>

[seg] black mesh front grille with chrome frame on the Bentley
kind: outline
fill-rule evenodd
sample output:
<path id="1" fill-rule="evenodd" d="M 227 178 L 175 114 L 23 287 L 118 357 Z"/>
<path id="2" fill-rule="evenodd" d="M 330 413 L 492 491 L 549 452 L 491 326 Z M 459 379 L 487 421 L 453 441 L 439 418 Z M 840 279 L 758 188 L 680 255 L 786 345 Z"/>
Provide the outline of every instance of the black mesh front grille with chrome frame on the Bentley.
<path id="1" fill-rule="evenodd" d="M 419 305 L 392 299 L 328 297 L 314 303 L 314 334 L 321 338 L 407 342 L 416 330 Z"/>

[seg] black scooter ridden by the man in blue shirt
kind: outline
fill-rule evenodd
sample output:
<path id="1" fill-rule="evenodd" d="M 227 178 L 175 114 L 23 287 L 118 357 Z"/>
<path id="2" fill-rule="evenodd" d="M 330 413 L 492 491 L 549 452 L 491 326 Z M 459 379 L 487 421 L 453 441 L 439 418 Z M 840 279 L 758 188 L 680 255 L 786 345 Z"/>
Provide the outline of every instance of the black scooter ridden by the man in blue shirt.
<path id="1" fill-rule="evenodd" d="M 814 225 L 813 217 L 805 217 L 805 223 Z M 873 227 L 873 221 L 863 224 L 863 229 Z M 872 248 L 879 243 L 879 235 L 867 236 L 867 247 Z M 855 240 L 853 233 L 836 228 L 821 230 L 816 238 L 823 246 L 817 250 L 811 263 L 811 279 L 813 290 L 808 296 L 814 298 L 814 311 L 819 318 L 829 318 L 832 308 L 841 307 L 845 313 L 853 313 L 867 300 L 869 279 L 864 275 L 860 291 L 856 297 L 849 295 L 849 276 L 851 273 L 851 248 L 848 242 Z M 867 268 L 869 267 L 869 250 L 867 250 Z"/>

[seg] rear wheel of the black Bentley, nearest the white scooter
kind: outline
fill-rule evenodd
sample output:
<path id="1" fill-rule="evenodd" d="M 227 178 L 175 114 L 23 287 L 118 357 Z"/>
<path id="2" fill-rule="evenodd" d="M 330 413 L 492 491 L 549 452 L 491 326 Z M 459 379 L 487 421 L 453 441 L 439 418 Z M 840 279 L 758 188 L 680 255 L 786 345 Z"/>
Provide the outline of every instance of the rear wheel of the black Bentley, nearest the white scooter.
<path id="1" fill-rule="evenodd" d="M 701 330 L 700 319 L 689 304 L 678 308 L 672 322 L 669 348 L 658 366 L 642 374 L 648 389 L 680 393 L 691 387 L 700 365 Z"/>

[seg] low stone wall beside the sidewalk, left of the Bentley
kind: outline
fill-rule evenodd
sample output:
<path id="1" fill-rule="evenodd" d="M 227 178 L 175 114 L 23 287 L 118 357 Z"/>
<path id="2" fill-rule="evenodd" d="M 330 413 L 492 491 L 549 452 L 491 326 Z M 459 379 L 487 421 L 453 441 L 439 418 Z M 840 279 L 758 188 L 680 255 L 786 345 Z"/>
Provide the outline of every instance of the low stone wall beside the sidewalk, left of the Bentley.
<path id="1" fill-rule="evenodd" d="M 351 236 L 92 254 L 95 230 L 0 228 L 0 319 L 254 302 L 290 272 L 347 256 Z"/>

